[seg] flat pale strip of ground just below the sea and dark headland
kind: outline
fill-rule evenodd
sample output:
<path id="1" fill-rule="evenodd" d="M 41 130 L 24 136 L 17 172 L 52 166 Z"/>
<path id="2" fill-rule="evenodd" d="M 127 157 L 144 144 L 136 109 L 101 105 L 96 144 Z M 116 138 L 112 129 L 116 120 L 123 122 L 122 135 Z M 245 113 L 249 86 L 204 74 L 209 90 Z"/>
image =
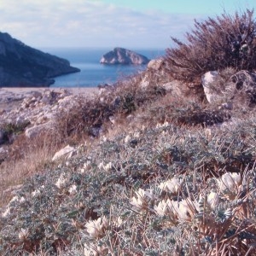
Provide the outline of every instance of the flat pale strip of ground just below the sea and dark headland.
<path id="1" fill-rule="evenodd" d="M 93 96 L 99 92 L 97 87 L 73 87 L 73 88 L 54 88 L 54 87 L 1 87 L 0 88 L 0 113 L 4 110 L 9 111 L 17 107 L 24 98 L 32 95 L 33 92 L 44 92 L 52 90 L 61 92 L 67 90 L 73 95 Z"/>

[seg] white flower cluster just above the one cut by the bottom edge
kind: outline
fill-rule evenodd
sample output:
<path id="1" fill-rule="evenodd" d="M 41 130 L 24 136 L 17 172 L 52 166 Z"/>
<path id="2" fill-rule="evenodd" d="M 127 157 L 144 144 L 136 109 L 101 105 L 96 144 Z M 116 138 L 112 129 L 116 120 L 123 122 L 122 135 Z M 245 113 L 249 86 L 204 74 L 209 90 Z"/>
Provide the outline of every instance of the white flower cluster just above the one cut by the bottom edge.
<path id="1" fill-rule="evenodd" d="M 86 230 L 90 237 L 97 238 L 102 237 L 108 226 L 108 219 L 104 216 L 103 218 L 98 218 L 97 220 L 91 220 L 85 224 Z"/>

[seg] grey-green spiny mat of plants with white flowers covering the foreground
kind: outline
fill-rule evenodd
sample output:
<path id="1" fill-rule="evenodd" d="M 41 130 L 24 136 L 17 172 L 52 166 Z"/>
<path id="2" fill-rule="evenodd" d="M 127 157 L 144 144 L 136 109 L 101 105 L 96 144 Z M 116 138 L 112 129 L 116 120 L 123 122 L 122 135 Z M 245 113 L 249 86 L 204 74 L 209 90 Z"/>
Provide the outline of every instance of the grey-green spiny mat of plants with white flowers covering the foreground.
<path id="1" fill-rule="evenodd" d="M 256 253 L 254 121 L 158 124 L 81 149 L 9 202 L 1 255 Z"/>

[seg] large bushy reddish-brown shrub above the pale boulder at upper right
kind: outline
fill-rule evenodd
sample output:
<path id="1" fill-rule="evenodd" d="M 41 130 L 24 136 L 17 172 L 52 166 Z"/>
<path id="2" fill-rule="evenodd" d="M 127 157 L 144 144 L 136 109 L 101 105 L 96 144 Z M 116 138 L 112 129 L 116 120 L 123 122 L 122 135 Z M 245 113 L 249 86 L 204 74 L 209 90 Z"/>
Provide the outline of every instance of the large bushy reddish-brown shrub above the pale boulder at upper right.
<path id="1" fill-rule="evenodd" d="M 224 13 L 201 22 L 195 20 L 195 29 L 185 36 L 186 43 L 172 38 L 177 48 L 166 50 L 167 67 L 175 79 L 200 84 L 201 75 L 208 71 L 256 68 L 253 10 L 234 16 Z"/>

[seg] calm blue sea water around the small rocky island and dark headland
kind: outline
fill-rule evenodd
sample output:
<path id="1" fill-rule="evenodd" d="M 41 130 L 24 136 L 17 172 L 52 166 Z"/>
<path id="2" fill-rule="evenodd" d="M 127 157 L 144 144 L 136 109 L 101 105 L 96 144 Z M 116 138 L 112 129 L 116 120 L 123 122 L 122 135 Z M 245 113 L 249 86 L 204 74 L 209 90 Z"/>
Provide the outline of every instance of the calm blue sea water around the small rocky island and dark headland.
<path id="1" fill-rule="evenodd" d="M 113 84 L 147 66 L 135 65 L 102 65 L 102 55 L 112 49 L 96 48 L 47 48 L 42 49 L 49 54 L 57 55 L 70 61 L 73 67 L 79 67 L 81 72 L 71 73 L 55 78 L 51 87 L 96 87 L 99 84 Z M 165 54 L 165 49 L 131 49 L 148 59 L 154 59 Z"/>

